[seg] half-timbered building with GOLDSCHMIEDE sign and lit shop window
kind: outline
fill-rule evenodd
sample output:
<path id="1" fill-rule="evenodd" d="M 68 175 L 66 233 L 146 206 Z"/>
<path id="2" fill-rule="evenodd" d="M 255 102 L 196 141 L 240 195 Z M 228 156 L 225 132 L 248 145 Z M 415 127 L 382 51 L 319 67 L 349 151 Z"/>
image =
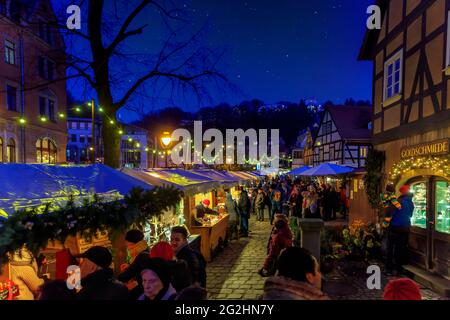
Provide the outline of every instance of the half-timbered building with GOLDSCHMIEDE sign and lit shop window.
<path id="1" fill-rule="evenodd" d="M 450 277 L 450 1 L 378 1 L 360 59 L 373 67 L 373 142 L 385 182 L 408 183 L 415 209 L 411 261 Z"/>

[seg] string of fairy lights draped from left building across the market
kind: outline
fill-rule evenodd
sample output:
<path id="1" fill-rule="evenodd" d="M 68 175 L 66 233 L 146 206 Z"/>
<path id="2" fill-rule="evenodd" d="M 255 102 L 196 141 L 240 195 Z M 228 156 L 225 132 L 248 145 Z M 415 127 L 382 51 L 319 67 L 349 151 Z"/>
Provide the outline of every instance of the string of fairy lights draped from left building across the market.
<path id="1" fill-rule="evenodd" d="M 84 104 L 81 104 L 81 105 L 77 105 L 77 106 L 75 106 L 75 107 L 73 107 L 73 108 L 70 108 L 70 109 L 68 109 L 68 110 L 75 111 L 75 113 L 81 113 L 81 112 L 83 111 L 83 110 L 82 110 L 82 106 L 88 106 L 89 108 L 92 108 L 92 102 L 87 102 L 87 103 L 84 103 Z M 98 106 L 98 108 L 96 109 L 96 111 L 97 111 L 98 113 L 102 114 L 103 119 L 106 120 L 106 121 L 104 121 L 105 124 L 108 124 L 108 125 L 110 125 L 110 126 L 114 126 L 114 127 L 115 127 L 116 132 L 117 132 L 120 136 L 123 136 L 123 135 L 125 134 L 124 128 L 121 127 L 121 126 L 119 125 L 119 123 L 118 123 L 115 119 L 113 119 L 112 117 L 110 117 L 110 116 L 104 111 L 104 109 L 103 109 L 100 105 Z M 67 118 L 67 114 L 64 113 L 64 112 L 58 112 L 58 113 L 57 113 L 57 117 L 58 117 L 59 119 L 66 119 L 66 118 Z M 39 116 L 39 121 L 42 122 L 42 123 L 46 123 L 46 122 L 54 121 L 54 120 L 55 120 L 55 119 L 50 119 L 50 117 L 49 117 L 49 116 L 46 116 L 46 115 L 40 115 L 40 116 Z M 19 122 L 19 124 L 20 124 L 21 126 L 25 126 L 25 125 L 28 123 L 27 119 L 26 119 L 25 117 L 23 117 L 23 116 L 20 117 L 20 118 L 18 119 L 18 122 Z M 127 140 L 129 143 L 133 143 L 133 142 L 134 142 L 134 139 L 131 137 L 131 135 L 128 135 L 128 138 L 127 138 L 126 140 Z M 190 147 L 190 148 L 192 148 L 193 150 L 195 149 L 195 146 L 192 145 L 193 140 L 187 139 L 187 143 L 189 144 L 189 147 Z M 209 145 L 206 145 L 206 146 L 209 147 Z M 172 149 L 173 151 L 172 151 L 172 150 L 159 150 L 159 149 L 157 149 L 157 148 L 151 148 L 151 147 L 149 147 L 149 146 L 141 146 L 140 142 L 138 142 L 138 141 L 136 141 L 136 143 L 134 144 L 134 147 L 135 147 L 136 149 L 138 149 L 138 150 L 136 150 L 136 151 L 142 151 L 142 150 L 144 150 L 144 151 L 147 152 L 147 153 L 152 153 L 153 155 L 158 155 L 158 156 L 161 156 L 161 158 L 165 158 L 165 156 L 170 155 L 173 151 L 181 151 L 183 148 L 185 148 L 185 147 L 186 147 L 186 142 L 183 142 L 183 143 L 182 143 L 181 145 L 179 145 L 178 147 L 173 148 L 173 149 Z M 223 146 L 222 146 L 222 149 L 225 149 L 225 148 L 233 148 L 233 146 L 228 145 L 228 146 L 225 147 L 225 145 L 223 145 Z M 91 147 L 90 150 L 92 151 L 93 148 Z M 197 156 L 200 156 L 200 158 L 202 159 L 202 161 L 203 161 L 204 163 L 207 163 L 207 164 L 209 164 L 209 165 L 215 164 L 215 163 L 217 162 L 217 160 L 219 159 L 220 156 L 223 157 L 223 155 L 221 155 L 220 153 L 219 153 L 219 154 L 216 154 L 216 155 L 215 155 L 214 157 L 212 157 L 212 158 L 209 158 L 209 157 L 203 157 L 203 155 L 201 155 L 200 152 L 198 152 L 198 151 L 195 151 L 195 152 L 196 152 L 196 155 L 197 155 Z M 253 166 L 256 166 L 256 165 L 261 164 L 261 163 L 270 163 L 270 162 L 275 161 L 275 160 L 282 160 L 282 161 L 285 161 L 285 162 L 288 162 L 288 163 L 292 163 L 292 161 L 293 161 L 292 158 L 286 157 L 286 156 L 282 156 L 282 157 L 278 157 L 278 156 L 269 157 L 269 156 L 267 156 L 267 155 L 263 155 L 263 156 L 261 157 L 260 160 L 257 160 L 257 159 L 248 159 L 248 160 L 247 160 L 247 159 L 245 159 L 245 156 L 244 156 L 244 157 L 242 158 L 241 163 L 245 163 L 246 165 L 253 165 Z M 231 164 L 232 162 L 233 162 L 233 161 L 232 161 L 232 158 L 229 157 L 229 156 L 227 156 L 227 157 L 226 157 L 226 160 L 225 160 L 225 164 Z"/>

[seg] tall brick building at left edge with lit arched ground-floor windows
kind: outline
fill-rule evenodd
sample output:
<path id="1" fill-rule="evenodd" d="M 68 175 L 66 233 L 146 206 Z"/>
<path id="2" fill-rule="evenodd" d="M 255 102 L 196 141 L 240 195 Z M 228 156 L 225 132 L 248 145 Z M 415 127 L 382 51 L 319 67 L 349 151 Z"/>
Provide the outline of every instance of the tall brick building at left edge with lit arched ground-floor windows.
<path id="1" fill-rule="evenodd" d="M 0 1 L 0 162 L 66 161 L 64 43 L 48 0 Z"/>

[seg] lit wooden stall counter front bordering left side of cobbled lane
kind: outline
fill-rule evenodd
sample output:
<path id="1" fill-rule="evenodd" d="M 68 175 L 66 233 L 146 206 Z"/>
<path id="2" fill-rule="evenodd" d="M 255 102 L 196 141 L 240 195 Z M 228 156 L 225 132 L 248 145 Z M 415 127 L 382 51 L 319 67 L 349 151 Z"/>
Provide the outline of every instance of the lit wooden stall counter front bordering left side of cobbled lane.
<path id="1" fill-rule="evenodd" d="M 212 260 L 212 253 L 219 243 L 225 241 L 229 218 L 228 214 L 224 214 L 222 219 L 215 221 L 211 225 L 191 227 L 191 233 L 198 234 L 201 237 L 201 253 L 207 262 Z"/>

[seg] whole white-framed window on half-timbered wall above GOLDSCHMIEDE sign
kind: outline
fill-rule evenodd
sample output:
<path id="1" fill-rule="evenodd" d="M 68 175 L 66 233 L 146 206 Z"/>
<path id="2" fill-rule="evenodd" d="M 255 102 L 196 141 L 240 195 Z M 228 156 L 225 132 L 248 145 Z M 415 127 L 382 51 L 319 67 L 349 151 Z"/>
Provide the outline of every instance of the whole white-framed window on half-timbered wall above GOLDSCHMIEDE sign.
<path id="1" fill-rule="evenodd" d="M 384 64 L 384 100 L 402 92 L 403 50 L 397 52 Z"/>

